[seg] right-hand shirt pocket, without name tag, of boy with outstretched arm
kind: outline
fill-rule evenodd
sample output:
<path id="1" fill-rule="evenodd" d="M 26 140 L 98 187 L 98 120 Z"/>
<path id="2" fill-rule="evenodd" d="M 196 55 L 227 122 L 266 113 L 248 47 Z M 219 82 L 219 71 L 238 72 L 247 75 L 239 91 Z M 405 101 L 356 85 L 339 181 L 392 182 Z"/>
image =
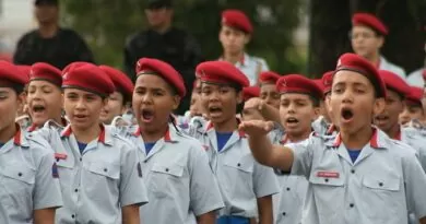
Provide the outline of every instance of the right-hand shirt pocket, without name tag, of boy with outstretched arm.
<path id="1" fill-rule="evenodd" d="M 398 174 L 369 174 L 362 181 L 363 211 L 371 219 L 387 220 L 404 200 Z"/>

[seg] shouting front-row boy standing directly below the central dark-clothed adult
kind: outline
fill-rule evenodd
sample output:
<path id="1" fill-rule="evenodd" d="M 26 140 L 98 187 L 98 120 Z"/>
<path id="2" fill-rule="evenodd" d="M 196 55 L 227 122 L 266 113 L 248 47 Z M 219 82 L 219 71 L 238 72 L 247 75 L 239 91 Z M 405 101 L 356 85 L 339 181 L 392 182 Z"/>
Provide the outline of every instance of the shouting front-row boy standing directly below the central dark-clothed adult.
<path id="1" fill-rule="evenodd" d="M 127 138 L 138 146 L 149 189 L 141 223 L 214 224 L 223 208 L 204 149 L 174 123 L 171 113 L 185 94 L 182 78 L 168 63 L 138 61 L 132 102 L 138 126 Z"/>

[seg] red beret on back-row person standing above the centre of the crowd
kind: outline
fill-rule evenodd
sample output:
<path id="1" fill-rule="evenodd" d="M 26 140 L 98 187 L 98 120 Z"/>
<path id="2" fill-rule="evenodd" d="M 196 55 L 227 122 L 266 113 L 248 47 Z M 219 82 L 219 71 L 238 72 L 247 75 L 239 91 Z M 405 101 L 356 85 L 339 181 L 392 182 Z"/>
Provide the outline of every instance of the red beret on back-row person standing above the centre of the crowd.
<path id="1" fill-rule="evenodd" d="M 241 30 L 245 33 L 251 34 L 253 27 L 250 20 L 240 10 L 225 10 L 222 12 L 222 24 Z"/>

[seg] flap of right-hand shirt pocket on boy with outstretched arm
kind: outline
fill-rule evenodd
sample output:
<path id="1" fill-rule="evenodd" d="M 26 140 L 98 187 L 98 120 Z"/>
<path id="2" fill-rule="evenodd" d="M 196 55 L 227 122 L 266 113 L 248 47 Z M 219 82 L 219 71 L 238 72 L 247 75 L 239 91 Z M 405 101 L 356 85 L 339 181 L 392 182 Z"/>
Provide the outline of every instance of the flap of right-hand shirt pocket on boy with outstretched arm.
<path id="1" fill-rule="evenodd" d="M 370 189 L 399 191 L 400 180 L 398 175 L 368 175 L 363 178 L 363 185 Z"/>

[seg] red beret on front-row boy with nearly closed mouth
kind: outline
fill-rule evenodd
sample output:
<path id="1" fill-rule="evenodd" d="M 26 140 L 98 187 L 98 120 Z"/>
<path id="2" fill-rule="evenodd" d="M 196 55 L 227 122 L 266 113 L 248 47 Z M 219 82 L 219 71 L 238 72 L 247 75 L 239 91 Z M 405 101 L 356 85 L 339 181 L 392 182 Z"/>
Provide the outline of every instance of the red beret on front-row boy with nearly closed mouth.
<path id="1" fill-rule="evenodd" d="M 81 89 L 87 92 L 108 96 L 114 93 L 115 86 L 105 72 L 93 63 L 70 63 L 63 69 L 63 89 Z"/>

